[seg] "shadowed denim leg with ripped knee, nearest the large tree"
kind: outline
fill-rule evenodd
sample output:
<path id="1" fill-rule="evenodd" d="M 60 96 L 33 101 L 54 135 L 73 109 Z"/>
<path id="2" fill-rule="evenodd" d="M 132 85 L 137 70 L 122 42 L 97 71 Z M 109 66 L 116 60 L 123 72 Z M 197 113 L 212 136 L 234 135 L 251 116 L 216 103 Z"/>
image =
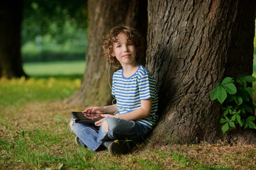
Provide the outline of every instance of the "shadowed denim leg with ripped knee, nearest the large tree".
<path id="1" fill-rule="evenodd" d="M 139 142 L 150 133 L 151 129 L 133 120 L 106 118 L 108 124 L 107 137 L 110 140 L 133 140 Z"/>

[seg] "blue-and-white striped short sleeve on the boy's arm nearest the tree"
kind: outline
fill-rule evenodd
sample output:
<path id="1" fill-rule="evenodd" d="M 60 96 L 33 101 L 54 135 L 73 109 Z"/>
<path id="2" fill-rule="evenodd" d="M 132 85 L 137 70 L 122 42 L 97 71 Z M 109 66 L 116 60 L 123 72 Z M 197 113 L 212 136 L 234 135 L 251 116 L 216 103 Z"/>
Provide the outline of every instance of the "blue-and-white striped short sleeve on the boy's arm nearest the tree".
<path id="1" fill-rule="evenodd" d="M 155 98 L 155 79 L 145 74 L 138 81 L 140 100 Z"/>

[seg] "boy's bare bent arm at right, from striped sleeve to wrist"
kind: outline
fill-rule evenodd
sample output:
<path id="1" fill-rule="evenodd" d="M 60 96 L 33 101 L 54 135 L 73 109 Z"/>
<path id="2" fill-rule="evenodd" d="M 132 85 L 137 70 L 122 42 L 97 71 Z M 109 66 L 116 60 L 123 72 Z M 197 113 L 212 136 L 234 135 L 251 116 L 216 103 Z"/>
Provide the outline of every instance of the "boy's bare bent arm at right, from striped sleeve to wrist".
<path id="1" fill-rule="evenodd" d="M 141 101 L 141 107 L 130 113 L 123 115 L 114 115 L 115 118 L 122 118 L 126 120 L 139 120 L 141 118 L 147 118 L 151 113 L 152 98 Z"/>

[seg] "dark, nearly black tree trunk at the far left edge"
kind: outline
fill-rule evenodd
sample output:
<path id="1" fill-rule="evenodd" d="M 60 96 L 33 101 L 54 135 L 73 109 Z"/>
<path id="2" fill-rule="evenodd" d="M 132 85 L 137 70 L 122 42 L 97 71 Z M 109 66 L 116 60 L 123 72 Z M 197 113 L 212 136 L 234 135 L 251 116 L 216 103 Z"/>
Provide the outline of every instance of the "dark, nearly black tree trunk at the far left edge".
<path id="1" fill-rule="evenodd" d="M 26 76 L 21 62 L 23 1 L 5 1 L 0 6 L 0 77 Z"/>

